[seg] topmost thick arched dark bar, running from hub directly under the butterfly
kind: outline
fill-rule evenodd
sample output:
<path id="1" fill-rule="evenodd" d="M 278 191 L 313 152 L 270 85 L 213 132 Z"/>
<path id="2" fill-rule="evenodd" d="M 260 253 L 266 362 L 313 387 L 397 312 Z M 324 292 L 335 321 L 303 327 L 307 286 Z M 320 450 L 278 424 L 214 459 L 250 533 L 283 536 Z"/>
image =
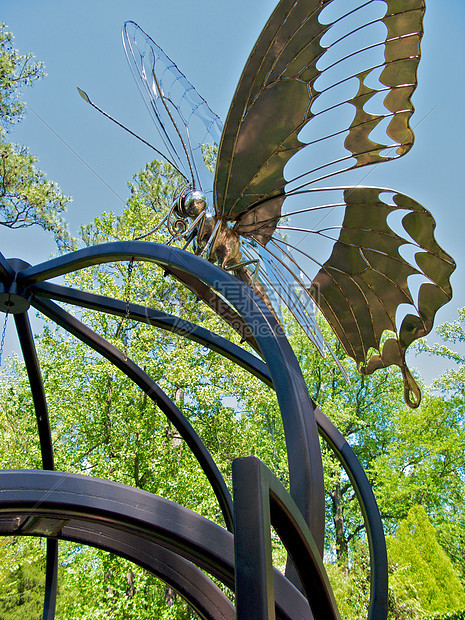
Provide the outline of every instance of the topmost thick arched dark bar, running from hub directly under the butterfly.
<path id="1" fill-rule="evenodd" d="M 76 269 L 121 260 L 152 261 L 186 272 L 225 297 L 247 322 L 276 388 L 289 462 L 291 496 L 304 515 L 320 553 L 324 546 L 323 465 L 315 418 L 299 364 L 275 317 L 251 289 L 211 263 L 177 248 L 120 241 L 84 248 L 18 273 L 22 286 Z"/>

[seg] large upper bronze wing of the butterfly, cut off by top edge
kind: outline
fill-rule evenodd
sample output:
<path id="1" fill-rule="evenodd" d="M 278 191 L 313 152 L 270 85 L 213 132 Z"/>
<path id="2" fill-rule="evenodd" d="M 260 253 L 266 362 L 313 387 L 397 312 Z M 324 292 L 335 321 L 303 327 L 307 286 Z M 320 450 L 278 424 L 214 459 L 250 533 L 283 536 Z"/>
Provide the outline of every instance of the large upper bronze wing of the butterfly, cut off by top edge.
<path id="1" fill-rule="evenodd" d="M 277 214 L 284 193 L 405 154 L 423 13 L 423 0 L 281 0 L 228 113 L 217 213 Z"/>

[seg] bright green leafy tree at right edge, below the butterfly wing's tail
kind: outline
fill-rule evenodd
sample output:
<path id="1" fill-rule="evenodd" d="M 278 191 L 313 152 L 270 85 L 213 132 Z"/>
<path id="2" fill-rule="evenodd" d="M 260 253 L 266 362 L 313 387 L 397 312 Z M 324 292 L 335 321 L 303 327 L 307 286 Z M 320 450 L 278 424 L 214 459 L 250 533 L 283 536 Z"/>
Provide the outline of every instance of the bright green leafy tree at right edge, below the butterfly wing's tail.
<path id="1" fill-rule="evenodd" d="M 442 396 L 425 391 L 415 412 L 401 410 L 392 433 L 371 465 L 379 506 L 386 523 L 396 525 L 409 508 L 421 504 L 435 526 L 463 513 L 465 464 L 463 412 Z"/>

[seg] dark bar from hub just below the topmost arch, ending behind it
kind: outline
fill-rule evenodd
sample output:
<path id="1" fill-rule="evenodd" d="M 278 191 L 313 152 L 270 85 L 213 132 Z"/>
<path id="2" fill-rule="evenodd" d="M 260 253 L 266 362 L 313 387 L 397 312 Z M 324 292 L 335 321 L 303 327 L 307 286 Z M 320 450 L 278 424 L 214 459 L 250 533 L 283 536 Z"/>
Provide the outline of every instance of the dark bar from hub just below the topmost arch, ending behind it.
<path id="1" fill-rule="evenodd" d="M 268 373 L 266 364 L 248 351 L 233 344 L 226 338 L 215 334 L 200 325 L 181 319 L 178 316 L 168 314 L 161 310 L 148 308 L 134 303 L 126 304 L 119 299 L 96 295 L 95 293 L 86 293 L 76 289 L 44 282 L 36 284 L 32 287 L 34 295 L 37 297 L 46 297 L 55 301 L 62 301 L 68 304 L 74 304 L 91 310 L 99 310 L 107 314 L 115 316 L 128 316 L 133 321 L 140 321 L 147 325 L 152 325 L 160 329 L 178 334 L 194 342 L 198 342 L 202 346 L 208 347 L 215 353 L 219 353 L 223 357 L 233 361 L 238 366 L 252 372 L 264 383 L 272 386 L 272 381 Z M 129 312 L 128 312 L 129 311 Z"/>

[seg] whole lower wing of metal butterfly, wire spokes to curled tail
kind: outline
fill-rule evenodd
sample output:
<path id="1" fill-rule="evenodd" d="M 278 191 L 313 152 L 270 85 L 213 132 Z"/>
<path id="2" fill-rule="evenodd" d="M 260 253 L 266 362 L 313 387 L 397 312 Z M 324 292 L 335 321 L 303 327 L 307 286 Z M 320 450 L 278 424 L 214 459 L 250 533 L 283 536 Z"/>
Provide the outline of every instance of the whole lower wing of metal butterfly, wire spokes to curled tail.
<path id="1" fill-rule="evenodd" d="M 322 194 L 331 202 L 315 204 Z M 417 406 L 420 390 L 405 352 L 431 331 L 437 310 L 451 299 L 455 269 L 434 238 L 433 217 L 412 198 L 383 188 L 315 189 L 307 201 L 312 198 L 315 206 L 288 212 L 278 224 L 285 239 L 261 234 L 266 220 L 251 239 L 265 239 L 269 262 L 284 275 L 292 272 L 288 284 L 300 287 L 303 306 L 305 295 L 317 303 L 360 372 L 399 366 L 405 400 Z M 315 258 L 328 254 L 324 263 Z"/>

